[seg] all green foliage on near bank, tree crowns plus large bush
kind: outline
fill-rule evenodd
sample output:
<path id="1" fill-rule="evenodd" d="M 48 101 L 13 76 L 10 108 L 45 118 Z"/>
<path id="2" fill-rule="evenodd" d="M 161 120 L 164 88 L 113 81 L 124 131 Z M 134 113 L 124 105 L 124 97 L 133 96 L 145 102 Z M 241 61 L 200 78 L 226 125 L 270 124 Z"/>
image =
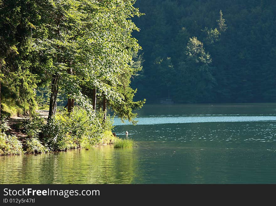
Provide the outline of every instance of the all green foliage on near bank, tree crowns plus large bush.
<path id="1" fill-rule="evenodd" d="M 133 101 L 137 89 L 130 87 L 143 62 L 132 37 L 139 29 L 131 18 L 142 15 L 135 1 L 0 2 L 1 111 L 7 116 L 29 114 L 24 123 L 28 138 L 23 140 L 27 152 L 108 141 L 104 131 L 113 126 L 101 110 L 104 99 L 122 120 L 136 123 L 133 111 L 145 100 Z M 97 111 L 92 106 L 94 89 Z M 79 108 L 56 114 L 58 98 L 73 99 Z M 46 123 L 35 109 L 48 105 Z"/>

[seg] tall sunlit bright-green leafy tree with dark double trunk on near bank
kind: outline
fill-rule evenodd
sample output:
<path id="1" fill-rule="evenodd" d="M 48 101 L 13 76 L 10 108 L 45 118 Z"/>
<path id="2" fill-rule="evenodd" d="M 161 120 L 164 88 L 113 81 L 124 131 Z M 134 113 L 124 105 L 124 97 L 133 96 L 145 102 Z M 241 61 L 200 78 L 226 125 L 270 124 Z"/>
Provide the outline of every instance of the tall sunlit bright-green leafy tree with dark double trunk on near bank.
<path id="1" fill-rule="evenodd" d="M 84 87 L 97 89 L 107 100 L 123 103 L 123 95 L 114 88 L 121 85 L 119 75 L 130 70 L 132 52 L 140 49 L 131 36 L 138 28 L 129 19 L 140 15 L 133 3 L 131 0 L 41 2 L 41 12 L 47 15 L 41 27 L 44 38 L 38 41 L 37 49 L 51 62 L 45 71 L 52 77 L 53 88 L 49 118 L 55 113 L 58 87 L 67 93 L 68 111 L 73 107 L 69 106 L 72 100 L 88 109 L 95 108 L 92 97 L 82 93 Z"/>

